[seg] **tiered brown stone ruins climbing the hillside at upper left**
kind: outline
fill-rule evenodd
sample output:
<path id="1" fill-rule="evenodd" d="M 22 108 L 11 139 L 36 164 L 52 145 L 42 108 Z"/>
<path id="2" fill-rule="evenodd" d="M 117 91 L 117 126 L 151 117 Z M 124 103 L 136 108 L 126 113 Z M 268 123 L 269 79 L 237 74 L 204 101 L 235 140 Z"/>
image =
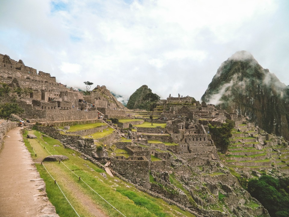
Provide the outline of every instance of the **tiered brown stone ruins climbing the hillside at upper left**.
<path id="1" fill-rule="evenodd" d="M 25 110 L 23 118 L 32 122 L 97 119 L 98 113 L 104 118 L 126 116 L 124 106 L 105 86 L 98 85 L 90 96 L 84 96 L 78 90 L 58 83 L 49 73 L 37 73 L 36 69 L 25 66 L 22 60 L 15 61 L 8 55 L 0 54 L 0 77 L 2 83 L 11 88 L 30 90 L 27 95 L 18 97 L 17 103 Z"/>

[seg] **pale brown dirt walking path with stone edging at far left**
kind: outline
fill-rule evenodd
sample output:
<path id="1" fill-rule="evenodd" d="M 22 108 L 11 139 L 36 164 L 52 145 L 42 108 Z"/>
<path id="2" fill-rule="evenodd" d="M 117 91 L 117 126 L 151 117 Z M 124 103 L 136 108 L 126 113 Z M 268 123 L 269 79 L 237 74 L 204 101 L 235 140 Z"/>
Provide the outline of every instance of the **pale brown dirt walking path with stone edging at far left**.
<path id="1" fill-rule="evenodd" d="M 0 216 L 58 216 L 46 197 L 45 183 L 23 143 L 20 129 L 7 133 L 0 150 Z"/>

